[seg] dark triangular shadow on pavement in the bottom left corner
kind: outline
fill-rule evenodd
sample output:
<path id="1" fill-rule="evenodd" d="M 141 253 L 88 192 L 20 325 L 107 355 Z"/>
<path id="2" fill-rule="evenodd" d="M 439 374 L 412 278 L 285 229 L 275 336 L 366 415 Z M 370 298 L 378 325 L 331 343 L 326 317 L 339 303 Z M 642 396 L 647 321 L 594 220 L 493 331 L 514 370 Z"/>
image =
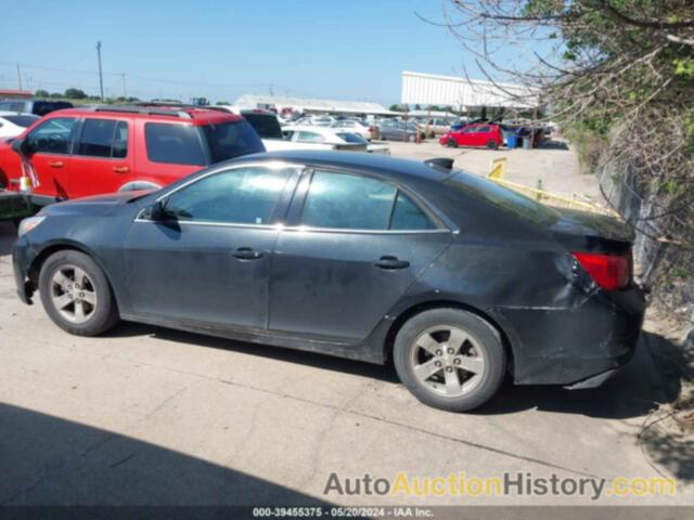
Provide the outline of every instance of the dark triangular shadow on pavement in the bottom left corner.
<path id="1" fill-rule="evenodd" d="M 0 506 L 326 505 L 242 471 L 7 404 L 0 467 Z"/>

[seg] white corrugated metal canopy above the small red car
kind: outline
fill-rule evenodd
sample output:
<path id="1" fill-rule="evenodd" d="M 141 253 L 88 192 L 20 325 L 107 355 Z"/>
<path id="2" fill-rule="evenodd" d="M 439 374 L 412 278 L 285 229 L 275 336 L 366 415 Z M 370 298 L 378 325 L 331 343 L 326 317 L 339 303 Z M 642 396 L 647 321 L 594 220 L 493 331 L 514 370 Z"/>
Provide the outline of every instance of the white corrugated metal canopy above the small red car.
<path id="1" fill-rule="evenodd" d="M 401 103 L 451 106 L 462 112 L 488 108 L 538 107 L 537 92 L 511 83 L 471 80 L 423 73 L 402 73 Z"/>

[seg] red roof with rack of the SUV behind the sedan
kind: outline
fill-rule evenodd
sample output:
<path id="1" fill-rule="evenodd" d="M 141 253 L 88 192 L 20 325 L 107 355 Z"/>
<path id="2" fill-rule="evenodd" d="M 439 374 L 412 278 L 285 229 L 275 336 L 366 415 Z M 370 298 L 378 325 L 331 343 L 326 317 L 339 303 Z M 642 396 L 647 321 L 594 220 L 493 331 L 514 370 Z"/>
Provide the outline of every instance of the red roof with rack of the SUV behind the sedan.
<path id="1" fill-rule="evenodd" d="M 243 118 L 236 114 L 221 110 L 210 110 L 207 108 L 190 107 L 150 107 L 150 106 L 86 106 L 75 108 L 63 108 L 49 114 L 49 117 L 63 116 L 94 116 L 94 117 L 118 117 L 130 119 L 147 119 L 171 121 L 179 120 L 193 125 L 206 125 L 214 122 L 241 121 Z"/>

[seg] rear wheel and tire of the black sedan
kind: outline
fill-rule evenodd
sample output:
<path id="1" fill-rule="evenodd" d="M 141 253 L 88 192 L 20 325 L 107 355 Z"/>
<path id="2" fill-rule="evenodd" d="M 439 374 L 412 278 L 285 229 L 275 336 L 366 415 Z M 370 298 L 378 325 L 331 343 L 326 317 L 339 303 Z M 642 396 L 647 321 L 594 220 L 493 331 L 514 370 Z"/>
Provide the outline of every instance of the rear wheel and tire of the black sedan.
<path id="1" fill-rule="evenodd" d="M 451 336 L 458 341 L 449 344 Z M 396 336 L 393 359 L 400 380 L 420 402 L 448 412 L 468 412 L 489 401 L 506 369 L 498 330 L 459 309 L 433 309 L 407 321 Z"/>

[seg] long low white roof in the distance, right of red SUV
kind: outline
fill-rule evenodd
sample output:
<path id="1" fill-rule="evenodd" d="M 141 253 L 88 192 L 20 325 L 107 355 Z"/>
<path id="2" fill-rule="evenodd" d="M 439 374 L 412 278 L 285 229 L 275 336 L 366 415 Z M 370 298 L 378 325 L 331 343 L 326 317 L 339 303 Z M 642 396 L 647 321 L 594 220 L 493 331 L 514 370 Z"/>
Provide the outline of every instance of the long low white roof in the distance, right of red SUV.
<path id="1" fill-rule="evenodd" d="M 281 110 L 282 108 L 294 108 L 295 110 L 308 110 L 320 113 L 337 114 L 378 114 L 378 115 L 400 115 L 391 112 L 378 103 L 365 101 L 335 101 L 318 100 L 310 98 L 281 98 L 277 95 L 255 95 L 245 94 L 236 100 L 234 105 L 240 108 L 257 108 L 271 106 Z"/>

